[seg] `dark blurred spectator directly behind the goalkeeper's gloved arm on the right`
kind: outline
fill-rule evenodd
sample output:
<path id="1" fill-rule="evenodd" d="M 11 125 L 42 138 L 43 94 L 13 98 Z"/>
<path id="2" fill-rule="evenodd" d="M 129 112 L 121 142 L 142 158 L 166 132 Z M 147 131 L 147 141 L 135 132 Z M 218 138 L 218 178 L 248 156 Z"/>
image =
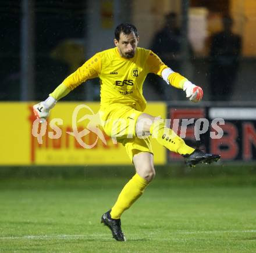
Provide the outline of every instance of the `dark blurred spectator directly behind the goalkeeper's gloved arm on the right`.
<path id="1" fill-rule="evenodd" d="M 180 71 L 181 39 L 180 28 L 177 25 L 177 15 L 170 12 L 165 16 L 165 23 L 162 29 L 154 35 L 150 47 L 167 66 L 176 72 Z M 190 44 L 189 52 L 192 55 Z M 170 99 L 168 93 L 171 91 L 166 91 L 166 83 L 161 78 L 158 78 L 156 75 L 150 75 L 150 82 L 163 100 Z"/>

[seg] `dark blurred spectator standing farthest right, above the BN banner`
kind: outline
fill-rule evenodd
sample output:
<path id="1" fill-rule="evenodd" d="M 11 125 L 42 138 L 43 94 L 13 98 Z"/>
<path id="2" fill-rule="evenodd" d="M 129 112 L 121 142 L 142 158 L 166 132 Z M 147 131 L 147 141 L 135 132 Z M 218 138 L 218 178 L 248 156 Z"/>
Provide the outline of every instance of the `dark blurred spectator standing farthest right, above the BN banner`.
<path id="1" fill-rule="evenodd" d="M 241 37 L 233 34 L 233 20 L 229 16 L 222 19 L 223 31 L 212 36 L 210 85 L 211 100 L 229 100 L 239 68 Z"/>

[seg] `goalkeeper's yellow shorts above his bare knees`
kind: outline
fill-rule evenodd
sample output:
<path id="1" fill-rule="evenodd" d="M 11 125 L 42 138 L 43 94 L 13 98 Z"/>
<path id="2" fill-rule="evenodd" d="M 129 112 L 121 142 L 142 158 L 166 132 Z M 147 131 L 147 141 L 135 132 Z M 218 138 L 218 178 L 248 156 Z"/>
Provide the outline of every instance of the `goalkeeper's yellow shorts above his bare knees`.
<path id="1" fill-rule="evenodd" d="M 125 146 L 131 161 L 133 156 L 140 152 L 153 154 L 150 137 L 136 136 L 136 122 L 142 113 L 124 104 L 111 104 L 107 109 L 99 110 L 105 133 Z"/>

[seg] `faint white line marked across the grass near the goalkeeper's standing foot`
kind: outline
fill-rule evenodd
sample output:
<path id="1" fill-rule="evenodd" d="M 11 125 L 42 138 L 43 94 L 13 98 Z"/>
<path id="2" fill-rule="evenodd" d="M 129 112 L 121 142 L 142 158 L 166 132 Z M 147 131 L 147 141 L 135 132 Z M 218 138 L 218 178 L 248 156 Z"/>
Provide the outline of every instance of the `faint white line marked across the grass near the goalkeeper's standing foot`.
<path id="1" fill-rule="evenodd" d="M 180 231 L 170 232 L 168 234 L 215 234 L 215 233 L 256 233 L 256 230 L 215 230 L 215 231 Z M 154 233 L 155 234 L 155 233 Z M 16 240 L 16 239 L 76 239 L 76 238 L 90 238 L 90 237 L 104 237 L 105 234 L 56 234 L 56 235 L 42 235 L 42 236 L 9 236 L 0 237 L 0 240 Z"/>

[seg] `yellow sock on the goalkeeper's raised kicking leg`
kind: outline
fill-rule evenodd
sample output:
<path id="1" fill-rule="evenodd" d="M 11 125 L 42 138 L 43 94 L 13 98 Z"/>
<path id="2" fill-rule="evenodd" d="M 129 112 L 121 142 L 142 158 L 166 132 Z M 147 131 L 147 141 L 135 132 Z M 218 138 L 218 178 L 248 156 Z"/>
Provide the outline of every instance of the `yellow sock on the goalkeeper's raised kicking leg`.
<path id="1" fill-rule="evenodd" d="M 187 146 L 184 140 L 177 136 L 172 129 L 166 127 L 162 119 L 156 120 L 151 125 L 150 133 L 152 138 L 156 138 L 160 144 L 170 151 L 178 154 L 191 154 L 194 151 L 194 149 Z"/>

